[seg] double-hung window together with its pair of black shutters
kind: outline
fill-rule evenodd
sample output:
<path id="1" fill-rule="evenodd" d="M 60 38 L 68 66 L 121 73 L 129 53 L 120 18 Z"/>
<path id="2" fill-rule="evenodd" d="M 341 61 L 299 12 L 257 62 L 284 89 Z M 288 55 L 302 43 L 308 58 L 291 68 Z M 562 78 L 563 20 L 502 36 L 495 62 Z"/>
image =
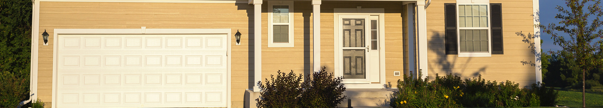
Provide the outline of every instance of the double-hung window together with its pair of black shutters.
<path id="1" fill-rule="evenodd" d="M 458 54 L 458 57 L 504 54 L 501 4 L 482 1 L 444 6 L 446 54 Z"/>

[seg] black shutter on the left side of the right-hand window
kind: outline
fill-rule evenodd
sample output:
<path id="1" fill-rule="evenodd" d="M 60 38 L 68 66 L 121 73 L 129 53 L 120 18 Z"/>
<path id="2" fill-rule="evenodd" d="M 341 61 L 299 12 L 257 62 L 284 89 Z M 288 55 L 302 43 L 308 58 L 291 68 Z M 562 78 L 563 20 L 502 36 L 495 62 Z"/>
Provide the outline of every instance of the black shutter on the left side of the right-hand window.
<path id="1" fill-rule="evenodd" d="M 456 4 L 444 4 L 444 27 L 446 28 L 446 55 L 458 54 L 456 44 Z"/>

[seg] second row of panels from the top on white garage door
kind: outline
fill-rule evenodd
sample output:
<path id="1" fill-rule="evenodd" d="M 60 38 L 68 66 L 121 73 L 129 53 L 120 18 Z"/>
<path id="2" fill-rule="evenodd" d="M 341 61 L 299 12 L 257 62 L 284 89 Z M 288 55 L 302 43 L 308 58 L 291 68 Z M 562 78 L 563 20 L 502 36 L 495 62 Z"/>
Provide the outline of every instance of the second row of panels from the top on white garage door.
<path id="1" fill-rule="evenodd" d="M 117 53 L 117 54 L 116 54 Z M 203 54 L 178 54 L 174 53 L 154 53 L 154 54 L 119 54 L 113 53 L 95 53 L 95 54 L 69 54 L 62 53 L 59 68 L 63 69 L 78 69 L 78 68 L 93 68 L 93 67 L 111 67 L 111 68 L 126 68 L 126 67 L 203 67 L 210 66 L 212 68 L 226 68 L 226 53 L 206 52 Z M 103 56 L 98 56 L 102 54 Z"/>

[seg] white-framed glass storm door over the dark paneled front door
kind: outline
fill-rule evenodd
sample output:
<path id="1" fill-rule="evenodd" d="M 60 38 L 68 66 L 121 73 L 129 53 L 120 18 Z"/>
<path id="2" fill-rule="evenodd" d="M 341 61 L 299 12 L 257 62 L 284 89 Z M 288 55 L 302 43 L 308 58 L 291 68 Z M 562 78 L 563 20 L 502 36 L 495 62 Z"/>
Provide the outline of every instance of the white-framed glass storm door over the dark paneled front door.
<path id="1" fill-rule="evenodd" d="M 347 80 L 368 80 L 367 58 L 370 39 L 367 38 L 368 17 L 343 17 L 341 19 L 343 77 Z M 369 30 L 370 31 L 370 30 Z"/>

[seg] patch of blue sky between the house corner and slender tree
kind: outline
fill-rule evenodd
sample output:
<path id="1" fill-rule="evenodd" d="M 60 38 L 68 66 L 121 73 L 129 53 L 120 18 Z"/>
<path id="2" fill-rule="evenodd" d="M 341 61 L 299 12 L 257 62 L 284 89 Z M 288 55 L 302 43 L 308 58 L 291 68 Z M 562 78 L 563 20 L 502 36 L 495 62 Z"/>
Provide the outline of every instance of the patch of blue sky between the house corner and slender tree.
<path id="1" fill-rule="evenodd" d="M 555 7 L 557 7 L 557 5 L 564 6 L 565 1 L 540 0 L 540 24 L 548 25 L 551 23 L 557 24 L 559 22 L 558 19 L 555 19 L 555 16 L 557 15 L 557 13 L 560 13 L 555 8 Z M 560 34 L 563 34 L 563 33 L 560 33 Z M 549 51 L 549 50 L 557 51 L 557 50 L 561 49 L 560 46 L 553 44 L 553 40 L 551 39 L 551 35 L 549 35 L 549 34 L 541 33 L 540 39 L 544 40 L 544 42 L 542 43 L 543 51 Z"/>

